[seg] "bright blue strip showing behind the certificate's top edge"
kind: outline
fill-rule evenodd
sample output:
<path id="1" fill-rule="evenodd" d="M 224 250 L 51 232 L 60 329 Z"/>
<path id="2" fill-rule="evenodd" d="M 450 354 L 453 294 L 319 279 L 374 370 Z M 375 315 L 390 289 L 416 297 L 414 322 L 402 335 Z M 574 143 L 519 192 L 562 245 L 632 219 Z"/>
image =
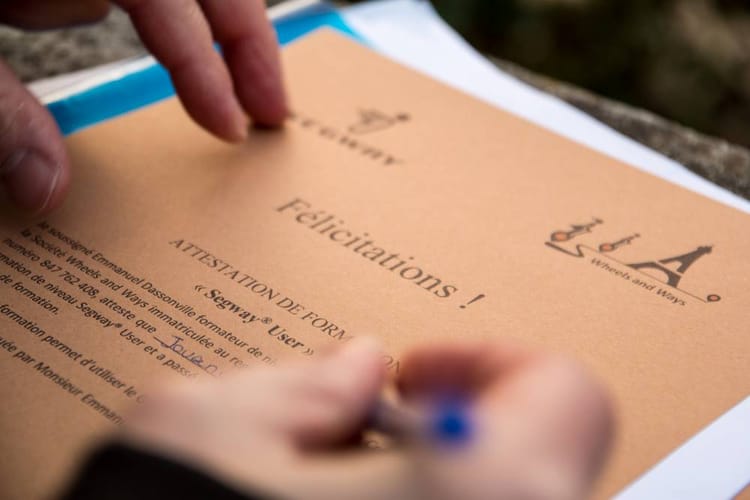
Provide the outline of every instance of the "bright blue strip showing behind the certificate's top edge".
<path id="1" fill-rule="evenodd" d="M 319 5 L 274 22 L 279 43 L 286 45 L 323 26 L 362 41 L 330 6 Z M 64 135 L 134 111 L 174 95 L 169 74 L 161 65 L 107 82 L 47 105 Z"/>

